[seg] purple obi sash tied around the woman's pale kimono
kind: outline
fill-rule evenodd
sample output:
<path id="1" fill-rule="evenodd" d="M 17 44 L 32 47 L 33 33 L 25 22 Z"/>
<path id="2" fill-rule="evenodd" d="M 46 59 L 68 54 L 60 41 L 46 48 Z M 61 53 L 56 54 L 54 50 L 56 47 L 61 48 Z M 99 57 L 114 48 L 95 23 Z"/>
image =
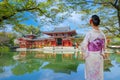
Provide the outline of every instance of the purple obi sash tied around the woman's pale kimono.
<path id="1" fill-rule="evenodd" d="M 105 39 L 97 38 L 91 42 L 88 42 L 88 51 L 102 51 L 104 45 Z"/>

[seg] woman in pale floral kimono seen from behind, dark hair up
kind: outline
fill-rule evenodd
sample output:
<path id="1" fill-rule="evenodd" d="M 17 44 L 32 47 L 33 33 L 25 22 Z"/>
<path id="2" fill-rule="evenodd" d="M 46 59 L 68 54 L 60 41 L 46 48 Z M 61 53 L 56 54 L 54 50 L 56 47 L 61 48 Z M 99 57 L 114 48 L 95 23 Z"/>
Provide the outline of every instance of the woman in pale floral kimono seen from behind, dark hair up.
<path id="1" fill-rule="evenodd" d="M 99 17 L 93 15 L 90 19 L 92 30 L 86 34 L 81 44 L 85 58 L 85 80 L 103 80 L 103 58 L 106 38 L 99 29 L 99 24 Z"/>

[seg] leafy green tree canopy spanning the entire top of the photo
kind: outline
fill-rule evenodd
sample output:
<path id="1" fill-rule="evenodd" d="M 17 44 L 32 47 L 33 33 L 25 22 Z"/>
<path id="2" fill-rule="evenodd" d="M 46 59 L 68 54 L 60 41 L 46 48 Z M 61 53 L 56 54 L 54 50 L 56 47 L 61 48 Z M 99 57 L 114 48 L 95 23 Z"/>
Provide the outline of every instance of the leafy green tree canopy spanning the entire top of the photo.
<path id="1" fill-rule="evenodd" d="M 0 27 L 5 24 L 21 25 L 27 20 L 25 13 L 40 17 L 39 25 L 61 23 L 71 13 L 84 14 L 86 21 L 89 15 L 98 14 L 101 25 L 115 36 L 120 36 L 120 0 L 2 0 L 0 2 Z M 107 15 L 107 16 L 106 16 Z M 82 25 L 81 25 L 82 26 Z M 86 23 L 86 26 L 89 26 Z"/>

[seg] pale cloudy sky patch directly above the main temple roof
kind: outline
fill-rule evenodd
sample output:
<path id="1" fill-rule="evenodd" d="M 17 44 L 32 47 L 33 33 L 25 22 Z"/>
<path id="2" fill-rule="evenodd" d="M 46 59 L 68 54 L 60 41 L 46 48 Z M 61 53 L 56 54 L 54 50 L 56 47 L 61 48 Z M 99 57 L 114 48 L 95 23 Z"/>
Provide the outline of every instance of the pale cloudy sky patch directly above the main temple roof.
<path id="1" fill-rule="evenodd" d="M 69 26 L 71 30 L 76 30 L 76 32 L 78 34 L 84 33 L 86 30 L 88 30 L 89 28 L 87 27 L 82 27 L 80 26 L 81 24 L 85 24 L 85 21 L 81 20 L 82 14 L 77 14 L 75 12 L 71 13 L 71 17 L 68 17 L 67 19 L 65 19 L 62 23 L 58 24 L 58 25 L 45 25 L 43 27 L 41 27 L 41 30 L 43 31 L 48 31 L 48 30 L 52 30 L 54 27 L 65 27 L 65 26 Z M 81 27 L 81 28 L 80 28 Z"/>

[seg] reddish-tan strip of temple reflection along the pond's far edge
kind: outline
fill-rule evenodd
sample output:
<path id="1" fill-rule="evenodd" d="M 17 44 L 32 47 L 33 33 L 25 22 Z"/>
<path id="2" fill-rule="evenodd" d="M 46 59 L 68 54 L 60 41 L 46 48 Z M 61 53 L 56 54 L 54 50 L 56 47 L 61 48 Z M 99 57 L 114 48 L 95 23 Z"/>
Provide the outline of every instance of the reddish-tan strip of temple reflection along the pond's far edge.
<path id="1" fill-rule="evenodd" d="M 72 59 L 76 59 L 76 60 L 82 60 L 82 55 L 80 54 L 80 52 L 58 52 L 58 53 L 43 53 L 43 52 L 20 52 L 19 53 L 19 57 L 23 58 L 23 57 L 28 57 L 29 55 L 34 54 L 32 57 L 34 58 L 40 58 L 40 59 L 54 59 L 56 60 L 56 58 L 61 58 L 65 59 L 65 60 L 72 60 Z"/>

